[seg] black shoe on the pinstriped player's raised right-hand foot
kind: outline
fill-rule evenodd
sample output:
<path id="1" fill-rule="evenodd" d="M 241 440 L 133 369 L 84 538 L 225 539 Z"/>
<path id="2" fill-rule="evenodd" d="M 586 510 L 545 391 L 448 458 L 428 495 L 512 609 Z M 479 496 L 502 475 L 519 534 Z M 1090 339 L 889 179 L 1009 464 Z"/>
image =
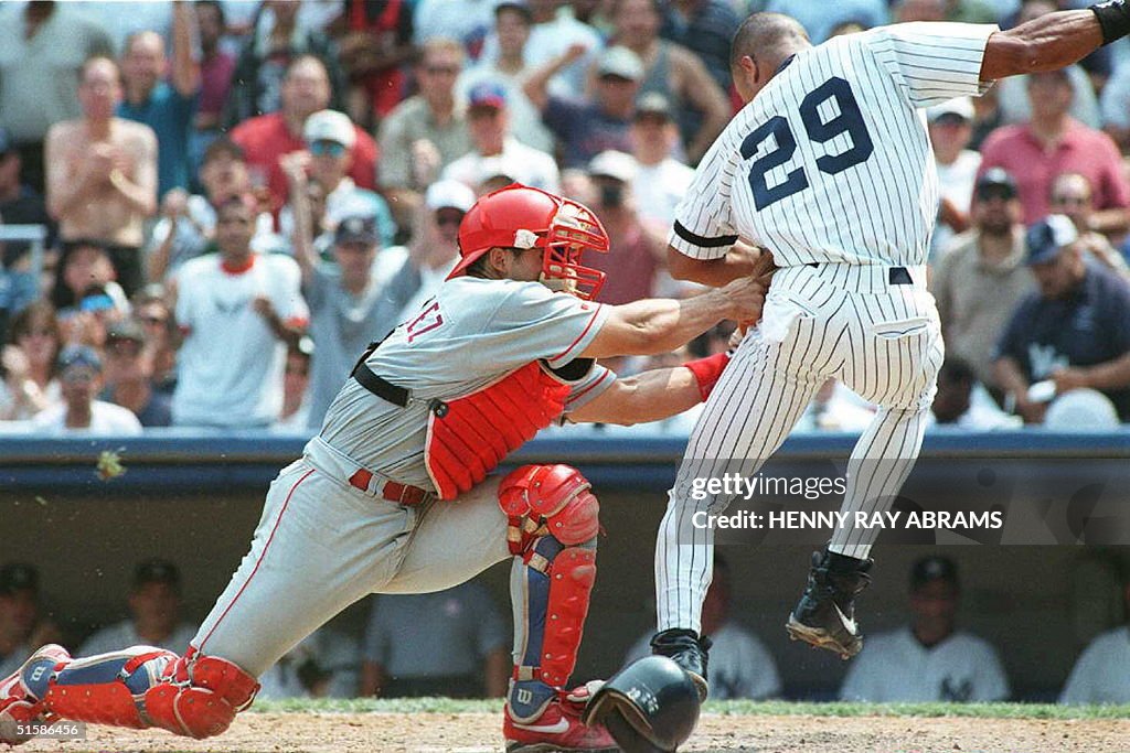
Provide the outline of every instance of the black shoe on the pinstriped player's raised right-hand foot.
<path id="1" fill-rule="evenodd" d="M 863 638 L 855 624 L 855 597 L 870 585 L 868 570 L 873 563 L 827 549 L 812 552 L 808 586 L 785 625 L 789 637 L 835 651 L 844 659 L 859 654 Z"/>

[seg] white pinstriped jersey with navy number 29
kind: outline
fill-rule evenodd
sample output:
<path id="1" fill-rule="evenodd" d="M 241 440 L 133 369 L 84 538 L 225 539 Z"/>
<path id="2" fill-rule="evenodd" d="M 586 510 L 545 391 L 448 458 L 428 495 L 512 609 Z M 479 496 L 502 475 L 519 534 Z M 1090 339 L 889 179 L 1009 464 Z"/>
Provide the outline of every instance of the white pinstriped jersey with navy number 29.
<path id="1" fill-rule="evenodd" d="M 996 30 L 898 24 L 798 53 L 706 152 L 669 243 L 707 260 L 740 236 L 781 266 L 924 264 L 938 175 L 920 108 L 988 88 Z"/>

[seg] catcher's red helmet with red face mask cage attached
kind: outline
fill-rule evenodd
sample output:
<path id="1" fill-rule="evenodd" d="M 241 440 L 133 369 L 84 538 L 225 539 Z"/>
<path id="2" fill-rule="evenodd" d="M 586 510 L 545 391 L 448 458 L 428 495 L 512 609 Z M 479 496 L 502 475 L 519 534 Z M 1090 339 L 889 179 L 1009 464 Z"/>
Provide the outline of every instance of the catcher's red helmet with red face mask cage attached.
<path id="1" fill-rule="evenodd" d="M 513 183 L 480 198 L 459 226 L 462 259 L 447 279 L 459 277 L 495 246 L 544 248 L 542 281 L 591 300 L 605 283 L 605 273 L 582 266 L 585 251 L 608 252 L 608 234 L 584 204 L 540 189 Z M 553 287 L 553 286 L 551 286 Z"/>

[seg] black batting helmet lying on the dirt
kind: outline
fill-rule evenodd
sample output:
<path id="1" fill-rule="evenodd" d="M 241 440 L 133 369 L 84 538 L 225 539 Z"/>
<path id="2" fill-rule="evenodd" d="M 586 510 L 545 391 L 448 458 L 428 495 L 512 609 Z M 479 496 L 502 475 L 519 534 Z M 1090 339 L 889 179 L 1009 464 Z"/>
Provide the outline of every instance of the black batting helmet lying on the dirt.
<path id="1" fill-rule="evenodd" d="M 634 662 L 606 682 L 582 721 L 608 728 L 626 753 L 673 753 L 698 723 L 698 689 L 666 656 Z"/>

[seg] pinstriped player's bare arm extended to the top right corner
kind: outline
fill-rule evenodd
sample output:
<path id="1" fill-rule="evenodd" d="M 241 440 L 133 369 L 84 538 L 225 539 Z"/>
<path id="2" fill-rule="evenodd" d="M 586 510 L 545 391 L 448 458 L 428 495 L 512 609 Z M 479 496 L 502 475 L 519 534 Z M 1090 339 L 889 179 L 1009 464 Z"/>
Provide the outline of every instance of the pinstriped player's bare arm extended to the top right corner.
<path id="1" fill-rule="evenodd" d="M 990 36 L 981 62 L 981 80 L 1063 68 L 1127 34 L 1130 34 L 1127 0 L 1048 14 Z"/>

